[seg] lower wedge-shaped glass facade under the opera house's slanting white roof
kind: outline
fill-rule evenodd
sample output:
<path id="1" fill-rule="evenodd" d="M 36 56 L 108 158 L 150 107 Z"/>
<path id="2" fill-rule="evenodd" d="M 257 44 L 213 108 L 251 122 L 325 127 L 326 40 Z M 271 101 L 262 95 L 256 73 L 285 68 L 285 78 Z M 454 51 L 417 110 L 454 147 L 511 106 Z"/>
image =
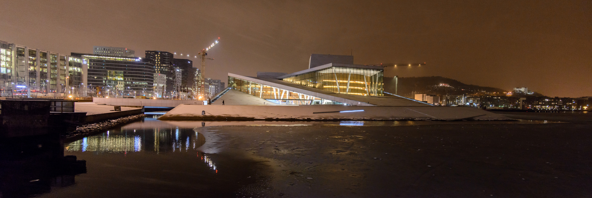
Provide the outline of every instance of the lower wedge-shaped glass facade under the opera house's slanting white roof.
<path id="1" fill-rule="evenodd" d="M 228 85 L 231 88 L 245 92 L 256 97 L 263 98 L 277 104 L 311 105 L 311 104 L 343 104 L 337 101 L 301 94 L 294 91 L 271 87 L 245 79 L 228 76 Z"/>

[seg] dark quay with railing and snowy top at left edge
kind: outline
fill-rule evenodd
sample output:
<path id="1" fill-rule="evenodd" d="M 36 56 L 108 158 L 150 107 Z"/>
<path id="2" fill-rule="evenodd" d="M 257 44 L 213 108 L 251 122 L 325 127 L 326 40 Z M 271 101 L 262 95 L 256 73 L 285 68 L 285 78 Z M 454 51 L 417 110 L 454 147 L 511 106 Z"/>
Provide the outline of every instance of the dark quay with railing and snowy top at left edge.
<path id="1" fill-rule="evenodd" d="M 76 126 L 144 113 L 144 107 L 119 107 L 73 100 L 15 98 L 0 100 L 0 138 L 59 135 Z"/>

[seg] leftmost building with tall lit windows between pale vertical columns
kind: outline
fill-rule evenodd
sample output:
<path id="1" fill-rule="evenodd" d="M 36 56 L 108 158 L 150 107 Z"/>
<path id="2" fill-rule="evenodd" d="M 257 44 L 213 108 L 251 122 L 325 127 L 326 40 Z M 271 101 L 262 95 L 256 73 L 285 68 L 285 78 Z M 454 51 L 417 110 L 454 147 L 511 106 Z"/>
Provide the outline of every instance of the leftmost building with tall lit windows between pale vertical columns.
<path id="1" fill-rule="evenodd" d="M 71 87 L 69 60 L 62 53 L 0 41 L 0 94 L 62 97 Z"/>

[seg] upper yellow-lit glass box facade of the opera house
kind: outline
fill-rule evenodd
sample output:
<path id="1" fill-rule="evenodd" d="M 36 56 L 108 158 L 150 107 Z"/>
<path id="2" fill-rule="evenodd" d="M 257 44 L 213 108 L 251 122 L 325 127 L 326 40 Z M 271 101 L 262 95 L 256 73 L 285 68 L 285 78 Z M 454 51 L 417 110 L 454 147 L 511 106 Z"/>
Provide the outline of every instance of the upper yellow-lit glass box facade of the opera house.
<path id="1" fill-rule="evenodd" d="M 333 66 L 282 80 L 342 94 L 384 95 L 383 76 L 384 72 L 380 69 Z"/>

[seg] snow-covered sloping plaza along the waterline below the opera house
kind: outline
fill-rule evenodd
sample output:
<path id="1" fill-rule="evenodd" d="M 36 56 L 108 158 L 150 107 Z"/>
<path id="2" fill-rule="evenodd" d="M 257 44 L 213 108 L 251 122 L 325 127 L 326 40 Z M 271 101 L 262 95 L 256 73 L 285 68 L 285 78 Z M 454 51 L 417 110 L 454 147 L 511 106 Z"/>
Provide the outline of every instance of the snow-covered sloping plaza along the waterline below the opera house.
<path id="1" fill-rule="evenodd" d="M 205 116 L 202 116 L 204 111 Z M 310 119 L 310 120 L 510 120 L 509 117 L 473 107 L 380 107 L 380 106 L 265 106 L 181 104 L 160 120 L 201 119 Z"/>

